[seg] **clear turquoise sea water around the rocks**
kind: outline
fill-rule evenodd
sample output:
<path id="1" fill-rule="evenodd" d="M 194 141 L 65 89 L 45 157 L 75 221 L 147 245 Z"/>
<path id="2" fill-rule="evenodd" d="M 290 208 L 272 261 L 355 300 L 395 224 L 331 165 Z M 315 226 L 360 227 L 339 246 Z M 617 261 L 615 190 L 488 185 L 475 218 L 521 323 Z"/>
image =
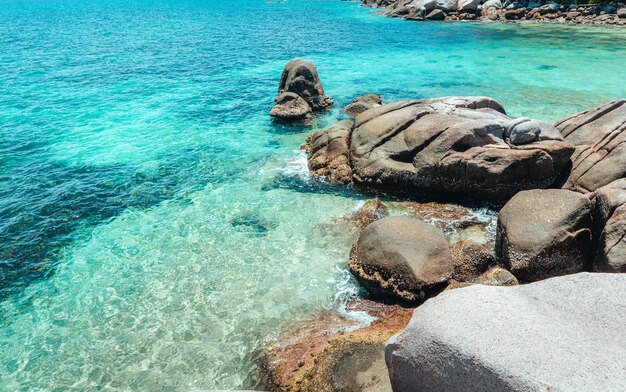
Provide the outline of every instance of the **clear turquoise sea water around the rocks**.
<path id="1" fill-rule="evenodd" d="M 626 96 L 626 31 L 411 23 L 339 1 L 0 1 L 0 389 L 248 387 L 354 286 L 361 201 L 267 112 L 290 58 L 337 107 L 490 95 L 556 120 Z"/>

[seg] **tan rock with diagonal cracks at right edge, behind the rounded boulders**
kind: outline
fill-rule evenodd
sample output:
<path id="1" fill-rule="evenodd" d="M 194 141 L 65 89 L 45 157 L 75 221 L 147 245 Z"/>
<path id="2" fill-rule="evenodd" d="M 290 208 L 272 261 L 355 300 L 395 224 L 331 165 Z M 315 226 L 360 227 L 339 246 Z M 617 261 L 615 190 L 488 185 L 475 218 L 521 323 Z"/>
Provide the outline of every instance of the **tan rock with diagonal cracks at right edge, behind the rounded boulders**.
<path id="1" fill-rule="evenodd" d="M 574 114 L 555 125 L 576 148 L 565 188 L 593 192 L 626 177 L 626 99 Z"/>

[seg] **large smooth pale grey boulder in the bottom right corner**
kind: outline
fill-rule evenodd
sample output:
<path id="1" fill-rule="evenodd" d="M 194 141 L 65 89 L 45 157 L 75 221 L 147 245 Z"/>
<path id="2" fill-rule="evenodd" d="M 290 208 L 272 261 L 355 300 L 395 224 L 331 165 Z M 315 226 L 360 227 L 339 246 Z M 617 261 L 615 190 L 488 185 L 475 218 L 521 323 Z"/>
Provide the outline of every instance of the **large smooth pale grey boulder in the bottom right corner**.
<path id="1" fill-rule="evenodd" d="M 446 291 L 385 349 L 395 392 L 626 391 L 626 275 Z"/>

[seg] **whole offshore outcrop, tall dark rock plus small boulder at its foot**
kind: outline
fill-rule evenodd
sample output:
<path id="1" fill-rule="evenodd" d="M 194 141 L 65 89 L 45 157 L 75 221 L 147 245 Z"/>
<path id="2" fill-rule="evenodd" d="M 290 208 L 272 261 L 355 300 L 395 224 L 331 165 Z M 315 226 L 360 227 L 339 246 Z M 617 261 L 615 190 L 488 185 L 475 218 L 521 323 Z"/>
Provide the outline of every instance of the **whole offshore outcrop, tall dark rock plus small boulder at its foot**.
<path id="1" fill-rule="evenodd" d="M 333 104 L 332 98 L 324 94 L 324 88 L 322 82 L 317 74 L 317 68 L 315 64 L 308 60 L 293 59 L 285 65 L 285 69 L 280 77 L 280 83 L 278 85 L 278 97 L 276 97 L 276 106 L 285 105 L 285 101 L 289 98 L 289 101 L 295 101 L 293 105 L 297 106 L 298 110 L 292 109 L 298 113 L 305 111 L 306 108 L 297 101 L 292 95 L 285 95 L 284 93 L 292 93 L 302 98 L 311 111 L 316 112 L 324 110 L 326 107 Z M 289 116 L 282 117 L 284 110 L 278 108 L 272 109 L 270 115 L 275 118 L 290 120 L 292 118 L 299 118 L 293 116 L 291 111 L 288 112 Z"/>

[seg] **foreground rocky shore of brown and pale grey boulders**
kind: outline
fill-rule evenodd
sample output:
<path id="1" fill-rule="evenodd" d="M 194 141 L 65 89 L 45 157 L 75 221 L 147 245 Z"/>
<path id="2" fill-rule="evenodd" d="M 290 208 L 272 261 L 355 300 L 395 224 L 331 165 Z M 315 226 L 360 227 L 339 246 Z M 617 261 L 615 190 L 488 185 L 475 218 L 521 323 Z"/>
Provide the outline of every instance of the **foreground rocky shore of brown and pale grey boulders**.
<path id="1" fill-rule="evenodd" d="M 348 308 L 374 321 L 287 331 L 265 351 L 272 390 L 626 390 L 626 99 L 552 124 L 489 97 L 345 112 L 303 149 L 323 181 L 400 199 L 343 218 L 367 293 Z M 486 202 L 493 228 L 468 207 Z"/>

